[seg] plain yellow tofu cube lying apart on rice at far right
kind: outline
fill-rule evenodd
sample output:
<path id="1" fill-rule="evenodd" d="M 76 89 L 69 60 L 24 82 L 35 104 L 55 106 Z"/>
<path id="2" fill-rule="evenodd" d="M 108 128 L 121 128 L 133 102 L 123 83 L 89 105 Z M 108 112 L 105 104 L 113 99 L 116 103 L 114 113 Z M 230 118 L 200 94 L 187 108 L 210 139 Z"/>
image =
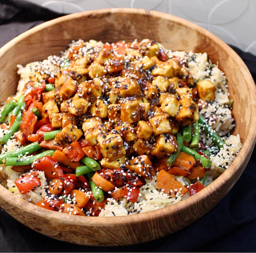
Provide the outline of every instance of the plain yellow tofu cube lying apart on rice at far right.
<path id="1" fill-rule="evenodd" d="M 215 99 L 216 88 L 209 80 L 203 80 L 196 85 L 199 97 L 204 101 L 211 101 Z"/>

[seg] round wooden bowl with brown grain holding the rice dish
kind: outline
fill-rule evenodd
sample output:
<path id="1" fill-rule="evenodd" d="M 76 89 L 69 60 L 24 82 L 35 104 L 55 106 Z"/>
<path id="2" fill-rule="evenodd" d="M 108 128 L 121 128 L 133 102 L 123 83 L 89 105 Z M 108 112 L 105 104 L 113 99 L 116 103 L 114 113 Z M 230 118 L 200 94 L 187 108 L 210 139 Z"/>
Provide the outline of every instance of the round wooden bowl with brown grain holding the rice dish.
<path id="1" fill-rule="evenodd" d="M 172 206 L 122 217 L 81 217 L 52 212 L 12 194 L 0 185 L 0 206 L 19 222 L 66 242 L 114 246 L 147 242 L 193 223 L 213 208 L 232 188 L 246 167 L 255 145 L 256 88 L 241 58 L 209 31 L 186 20 L 141 9 L 105 9 L 70 14 L 43 23 L 0 49 L 0 100 L 16 92 L 17 64 L 43 60 L 82 38 L 116 42 L 150 38 L 166 48 L 206 52 L 225 73 L 234 99 L 234 133 L 243 147 L 230 167 L 196 195 Z"/>

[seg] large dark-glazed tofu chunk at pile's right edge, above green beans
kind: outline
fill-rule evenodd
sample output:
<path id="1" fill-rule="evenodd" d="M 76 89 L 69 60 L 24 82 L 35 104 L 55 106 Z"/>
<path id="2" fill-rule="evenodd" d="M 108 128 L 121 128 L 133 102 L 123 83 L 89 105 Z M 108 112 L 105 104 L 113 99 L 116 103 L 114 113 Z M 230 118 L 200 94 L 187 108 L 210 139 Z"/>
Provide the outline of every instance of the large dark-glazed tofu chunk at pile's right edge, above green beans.
<path id="1" fill-rule="evenodd" d="M 178 123 L 184 127 L 191 125 L 198 121 L 198 105 L 191 98 L 182 98 L 179 100 L 180 109 L 175 115 Z"/>

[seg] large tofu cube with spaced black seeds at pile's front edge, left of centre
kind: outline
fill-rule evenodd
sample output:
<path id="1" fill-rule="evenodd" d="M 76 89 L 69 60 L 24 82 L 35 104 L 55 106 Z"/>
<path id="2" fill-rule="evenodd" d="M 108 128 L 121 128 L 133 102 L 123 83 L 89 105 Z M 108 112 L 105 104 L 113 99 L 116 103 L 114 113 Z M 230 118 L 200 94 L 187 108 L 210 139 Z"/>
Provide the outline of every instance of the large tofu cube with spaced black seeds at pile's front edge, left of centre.
<path id="1" fill-rule="evenodd" d="M 116 130 L 97 137 L 101 154 L 108 161 L 114 161 L 126 154 L 121 135 Z"/>

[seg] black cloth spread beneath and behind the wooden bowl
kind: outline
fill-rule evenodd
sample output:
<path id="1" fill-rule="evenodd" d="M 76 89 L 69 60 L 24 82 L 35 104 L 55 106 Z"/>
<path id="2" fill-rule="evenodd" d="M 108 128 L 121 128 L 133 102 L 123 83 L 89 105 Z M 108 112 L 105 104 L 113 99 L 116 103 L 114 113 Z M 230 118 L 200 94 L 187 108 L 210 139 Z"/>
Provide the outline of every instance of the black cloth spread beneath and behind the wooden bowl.
<path id="1" fill-rule="evenodd" d="M 62 16 L 23 0 L 0 0 L 0 47 L 20 33 Z M 239 48 L 256 81 L 256 56 Z M 1 252 L 255 252 L 256 251 L 256 161 L 253 155 L 230 192 L 206 215 L 184 229 L 130 246 L 81 246 L 41 235 L 0 208 Z M 100 236 L 100 235 L 99 235 Z"/>

